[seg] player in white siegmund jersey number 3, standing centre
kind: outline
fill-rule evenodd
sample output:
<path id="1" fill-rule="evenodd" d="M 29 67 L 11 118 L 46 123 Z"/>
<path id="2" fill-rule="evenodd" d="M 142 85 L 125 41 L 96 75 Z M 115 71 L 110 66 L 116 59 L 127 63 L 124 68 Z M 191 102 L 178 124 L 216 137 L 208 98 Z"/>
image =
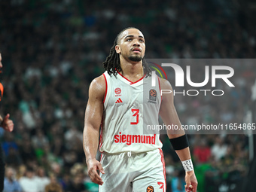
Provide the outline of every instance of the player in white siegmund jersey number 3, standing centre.
<path id="1" fill-rule="evenodd" d="M 172 90 L 171 85 L 158 78 L 157 85 L 151 87 L 151 70 L 144 56 L 142 32 L 133 27 L 123 29 L 103 62 L 106 72 L 90 84 L 84 153 L 88 175 L 99 184 L 100 192 L 166 191 L 162 143 L 159 134 L 145 131 L 145 125 L 158 124 L 158 114 L 166 125 L 181 127 L 181 123 L 173 95 L 160 96 L 160 89 Z M 187 136 L 181 129 L 167 133 L 186 171 L 185 189 L 196 192 L 197 178 Z M 102 152 L 100 162 L 96 160 L 98 146 Z"/>

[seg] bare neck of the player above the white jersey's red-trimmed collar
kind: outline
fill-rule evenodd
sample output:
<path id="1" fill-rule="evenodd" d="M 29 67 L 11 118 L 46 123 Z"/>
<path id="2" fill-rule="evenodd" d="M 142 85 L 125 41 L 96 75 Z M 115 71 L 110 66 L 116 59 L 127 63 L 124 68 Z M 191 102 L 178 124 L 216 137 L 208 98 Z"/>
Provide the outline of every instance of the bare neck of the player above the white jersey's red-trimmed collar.
<path id="1" fill-rule="evenodd" d="M 139 62 L 127 61 L 120 56 L 121 74 L 130 81 L 138 81 L 143 77 L 142 60 Z"/>

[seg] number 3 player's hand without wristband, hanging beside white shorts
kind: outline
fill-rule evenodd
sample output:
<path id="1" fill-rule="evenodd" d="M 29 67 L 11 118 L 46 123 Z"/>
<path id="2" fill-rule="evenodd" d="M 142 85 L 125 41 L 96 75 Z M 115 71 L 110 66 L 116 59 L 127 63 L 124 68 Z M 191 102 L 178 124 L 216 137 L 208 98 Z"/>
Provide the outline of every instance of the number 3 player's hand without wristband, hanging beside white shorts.
<path id="1" fill-rule="evenodd" d="M 87 168 L 88 168 L 88 175 L 90 176 L 90 180 L 93 181 L 93 183 L 96 184 L 103 184 L 102 178 L 99 176 L 97 169 L 99 169 L 99 172 L 102 174 L 105 174 L 102 164 L 99 163 L 96 159 L 87 160 Z"/>

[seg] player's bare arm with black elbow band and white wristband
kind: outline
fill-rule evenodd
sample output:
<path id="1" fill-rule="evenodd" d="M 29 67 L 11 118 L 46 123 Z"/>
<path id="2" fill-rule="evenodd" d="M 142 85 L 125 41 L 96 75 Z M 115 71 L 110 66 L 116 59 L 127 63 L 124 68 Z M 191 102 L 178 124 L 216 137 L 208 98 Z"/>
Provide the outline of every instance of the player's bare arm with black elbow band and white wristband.
<path id="1" fill-rule="evenodd" d="M 160 87 L 161 90 L 171 90 L 172 86 L 169 81 L 165 79 L 160 79 Z M 176 112 L 174 102 L 173 102 L 173 93 L 163 93 L 162 95 L 162 102 L 160 106 L 160 117 L 163 120 L 163 123 L 166 125 L 176 125 L 178 127 L 177 130 L 168 130 L 167 135 L 170 140 L 175 141 L 177 145 L 177 141 L 183 141 L 185 137 L 184 130 L 181 129 L 181 122 L 178 118 L 178 114 Z M 181 139 L 182 138 L 182 139 Z M 174 140 L 173 140 L 174 139 Z M 179 159 L 181 162 L 185 162 L 186 160 L 190 160 L 190 149 L 188 146 L 184 144 L 184 142 L 178 143 L 181 149 L 176 149 L 175 152 L 178 154 Z M 183 147 L 184 146 L 184 147 Z M 178 147 L 179 148 L 179 147 Z M 193 165 L 192 165 L 193 166 Z M 197 191 L 197 178 L 194 173 L 194 170 L 186 171 L 185 175 L 186 187 L 185 190 L 188 191 Z M 190 187 L 192 185 L 192 187 Z"/>

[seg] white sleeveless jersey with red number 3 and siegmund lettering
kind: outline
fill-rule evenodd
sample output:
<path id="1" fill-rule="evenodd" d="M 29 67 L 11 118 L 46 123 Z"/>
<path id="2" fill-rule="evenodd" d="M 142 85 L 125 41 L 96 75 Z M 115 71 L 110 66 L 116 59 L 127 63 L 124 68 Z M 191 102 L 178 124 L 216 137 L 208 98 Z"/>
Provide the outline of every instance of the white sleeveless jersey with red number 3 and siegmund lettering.
<path id="1" fill-rule="evenodd" d="M 120 73 L 103 76 L 106 92 L 99 151 L 140 153 L 162 148 L 159 133 L 148 129 L 159 124 L 159 79 L 152 87 L 151 77 L 131 82 Z"/>

